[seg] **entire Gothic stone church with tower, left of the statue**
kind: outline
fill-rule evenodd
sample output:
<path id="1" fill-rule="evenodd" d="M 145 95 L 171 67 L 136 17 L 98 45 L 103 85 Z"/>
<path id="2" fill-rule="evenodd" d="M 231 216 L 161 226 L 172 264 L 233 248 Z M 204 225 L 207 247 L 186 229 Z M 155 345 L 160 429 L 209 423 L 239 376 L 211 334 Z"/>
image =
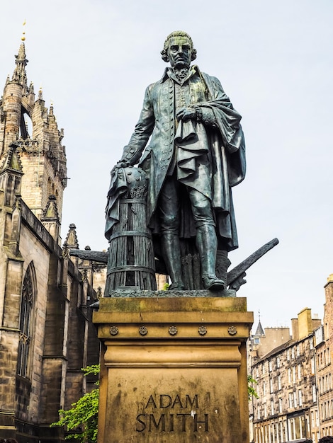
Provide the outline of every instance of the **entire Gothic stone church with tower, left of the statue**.
<path id="1" fill-rule="evenodd" d="M 28 86 L 27 63 L 22 42 L 0 100 L 0 437 L 62 442 L 50 423 L 94 386 L 81 368 L 99 359 L 89 304 L 105 266 L 70 257 L 74 225 L 61 247 L 63 130 Z"/>

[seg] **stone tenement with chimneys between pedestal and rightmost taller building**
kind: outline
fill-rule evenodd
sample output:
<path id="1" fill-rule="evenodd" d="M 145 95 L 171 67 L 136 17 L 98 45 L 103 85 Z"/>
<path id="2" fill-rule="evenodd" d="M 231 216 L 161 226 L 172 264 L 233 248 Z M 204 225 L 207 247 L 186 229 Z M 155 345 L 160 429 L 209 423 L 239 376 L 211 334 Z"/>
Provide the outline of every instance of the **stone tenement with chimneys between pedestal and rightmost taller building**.
<path id="1" fill-rule="evenodd" d="M 303 309 L 292 320 L 292 336 L 281 328 L 284 343 L 261 354 L 251 338 L 249 359 L 259 398 L 250 403 L 252 441 L 256 443 L 306 442 L 320 438 L 320 404 L 317 396 L 315 331 L 321 327 L 311 310 Z M 270 329 L 274 329 L 271 334 Z M 278 336 L 279 328 L 267 328 L 265 342 Z M 257 332 L 257 331 L 256 331 Z M 256 340 L 257 341 L 257 340 Z M 265 347 L 263 348 L 265 349 Z M 266 347 L 267 350 L 267 347 Z"/>

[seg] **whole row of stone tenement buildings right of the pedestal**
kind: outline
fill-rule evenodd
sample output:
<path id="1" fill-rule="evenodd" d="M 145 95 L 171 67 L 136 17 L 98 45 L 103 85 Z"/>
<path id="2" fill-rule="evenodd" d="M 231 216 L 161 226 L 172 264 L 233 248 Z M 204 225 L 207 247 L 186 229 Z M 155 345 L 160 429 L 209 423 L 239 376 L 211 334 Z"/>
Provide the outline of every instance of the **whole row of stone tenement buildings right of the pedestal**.
<path id="1" fill-rule="evenodd" d="M 333 275 L 324 289 L 322 322 L 306 308 L 292 319 L 291 336 L 289 328 L 263 330 L 259 321 L 249 340 L 248 371 L 259 393 L 249 403 L 252 442 L 333 436 Z"/>

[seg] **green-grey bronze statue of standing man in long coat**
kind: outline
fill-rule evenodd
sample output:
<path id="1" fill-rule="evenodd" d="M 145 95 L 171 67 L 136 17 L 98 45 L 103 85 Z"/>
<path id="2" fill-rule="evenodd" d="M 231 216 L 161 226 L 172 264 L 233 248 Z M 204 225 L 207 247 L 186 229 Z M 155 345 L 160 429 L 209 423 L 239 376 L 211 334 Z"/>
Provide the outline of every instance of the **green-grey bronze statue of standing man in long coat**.
<path id="1" fill-rule="evenodd" d="M 202 287 L 224 289 L 215 266 L 218 251 L 226 263 L 227 252 L 238 247 L 231 188 L 245 175 L 241 116 L 220 81 L 191 65 L 196 50 L 188 34 L 171 33 L 161 54 L 171 67 L 147 87 L 140 119 L 112 173 L 137 163 L 147 173 L 147 225 L 169 289 L 188 289 L 181 256 L 196 251 Z M 107 219 L 106 236 L 108 230 Z"/>

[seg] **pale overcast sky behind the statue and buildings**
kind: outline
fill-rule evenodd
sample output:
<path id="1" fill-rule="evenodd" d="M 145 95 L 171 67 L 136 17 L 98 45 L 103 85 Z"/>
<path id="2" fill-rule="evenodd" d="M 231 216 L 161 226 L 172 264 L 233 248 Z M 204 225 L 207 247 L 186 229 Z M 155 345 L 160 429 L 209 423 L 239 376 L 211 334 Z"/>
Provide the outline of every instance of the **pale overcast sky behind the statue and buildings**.
<path id="1" fill-rule="evenodd" d="M 128 143 L 145 88 L 166 64 L 173 30 L 217 76 L 242 115 L 247 178 L 233 190 L 239 249 L 232 267 L 272 238 L 237 295 L 266 326 L 323 314 L 332 247 L 332 0 L 16 0 L 1 4 L 0 81 L 15 66 L 26 20 L 28 82 L 64 128 L 68 181 L 62 238 L 108 248 L 110 171 Z M 0 85 L 1 87 L 1 85 Z"/>

